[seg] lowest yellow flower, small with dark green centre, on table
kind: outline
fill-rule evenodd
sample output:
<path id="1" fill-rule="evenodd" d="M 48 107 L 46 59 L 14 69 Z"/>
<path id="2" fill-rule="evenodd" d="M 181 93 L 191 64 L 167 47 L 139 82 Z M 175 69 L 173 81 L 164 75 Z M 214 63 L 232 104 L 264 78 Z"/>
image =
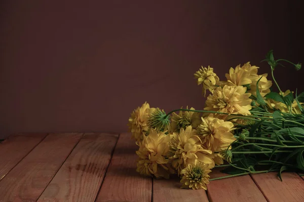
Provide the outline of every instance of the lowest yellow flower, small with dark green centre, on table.
<path id="1" fill-rule="evenodd" d="M 209 184 L 208 175 L 211 172 L 209 165 L 200 161 L 193 161 L 188 164 L 186 168 L 180 171 L 182 178 L 180 180 L 183 185 L 181 188 L 192 188 L 192 189 L 205 189 L 207 190 L 206 184 Z"/>

